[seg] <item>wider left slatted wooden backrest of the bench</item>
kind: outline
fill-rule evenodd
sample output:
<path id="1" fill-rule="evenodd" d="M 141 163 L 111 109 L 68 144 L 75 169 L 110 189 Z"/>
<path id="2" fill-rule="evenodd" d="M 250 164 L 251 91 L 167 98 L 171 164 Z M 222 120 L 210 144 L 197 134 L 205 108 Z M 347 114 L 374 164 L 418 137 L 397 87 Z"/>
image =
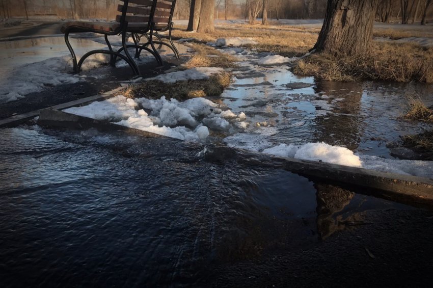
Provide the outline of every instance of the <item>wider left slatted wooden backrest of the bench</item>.
<path id="1" fill-rule="evenodd" d="M 116 22 L 122 26 L 127 22 L 133 23 L 135 27 L 143 25 L 144 28 L 150 28 L 154 20 L 154 12 L 157 0 L 120 0 L 123 2 L 117 7 L 117 11 L 122 12 L 116 16 Z M 158 1 L 159 2 L 159 1 Z"/>

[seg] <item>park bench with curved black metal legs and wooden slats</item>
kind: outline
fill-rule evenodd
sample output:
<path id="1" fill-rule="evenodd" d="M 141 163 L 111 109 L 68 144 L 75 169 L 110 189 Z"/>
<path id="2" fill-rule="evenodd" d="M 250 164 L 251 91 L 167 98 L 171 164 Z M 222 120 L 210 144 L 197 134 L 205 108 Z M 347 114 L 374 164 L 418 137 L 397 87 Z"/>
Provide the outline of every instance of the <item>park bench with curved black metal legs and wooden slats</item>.
<path id="1" fill-rule="evenodd" d="M 146 50 L 150 54 L 155 57 L 155 59 L 158 61 L 159 64 L 162 64 L 161 57 L 159 56 L 154 43 L 153 43 L 153 31 L 155 29 L 155 20 L 157 23 L 160 21 L 159 18 L 155 18 L 155 9 L 161 4 L 163 7 L 163 11 L 167 10 L 164 9 L 164 7 L 168 7 L 168 4 L 165 3 L 165 1 L 162 0 L 120 0 L 119 2 L 122 2 L 118 6 L 118 11 L 121 12 L 120 15 L 116 16 L 115 22 L 87 22 L 87 21 L 72 21 L 67 22 L 62 27 L 62 32 L 65 34 L 65 42 L 68 46 L 68 49 L 72 55 L 72 62 L 73 62 L 73 71 L 78 73 L 81 69 L 81 66 L 88 58 L 89 56 L 93 54 L 108 54 L 110 55 L 110 64 L 114 66 L 116 58 L 119 57 L 128 63 L 130 68 L 132 69 L 133 73 L 136 75 L 140 75 L 140 69 L 137 66 L 137 63 L 132 59 L 130 54 L 128 53 L 129 47 L 134 47 L 141 50 Z M 160 2 L 160 4 L 158 4 Z M 167 6 L 166 6 L 167 5 Z M 171 8 L 171 4 L 170 4 Z M 170 17 L 162 17 L 164 18 L 164 21 L 166 21 L 165 18 Z M 170 18 L 171 20 L 171 18 Z M 80 60 L 77 62 L 77 58 L 75 56 L 74 50 L 69 43 L 69 34 L 70 33 L 87 33 L 87 32 L 93 32 L 97 34 L 104 35 L 105 42 L 108 46 L 108 50 L 104 49 L 95 49 L 91 50 L 83 57 L 80 58 Z M 128 33 L 138 34 L 138 35 L 144 35 L 149 34 L 149 41 L 147 45 L 140 46 L 137 43 L 134 43 L 133 45 L 127 44 L 127 38 Z M 108 36 L 111 35 L 120 35 L 122 40 L 122 47 L 115 51 L 112 48 L 112 45 L 110 44 L 110 41 L 108 39 Z M 152 49 L 149 49 L 148 46 L 151 46 Z M 122 54 L 122 51 L 124 54 Z"/>

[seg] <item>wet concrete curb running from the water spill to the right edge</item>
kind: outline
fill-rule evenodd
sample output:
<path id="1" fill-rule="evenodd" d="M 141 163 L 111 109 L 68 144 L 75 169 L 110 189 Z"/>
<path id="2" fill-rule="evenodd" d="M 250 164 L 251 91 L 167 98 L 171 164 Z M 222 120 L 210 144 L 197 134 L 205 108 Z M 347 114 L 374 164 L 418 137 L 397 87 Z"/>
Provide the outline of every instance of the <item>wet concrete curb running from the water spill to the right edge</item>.
<path id="1" fill-rule="evenodd" d="M 324 180 L 355 188 L 357 193 L 404 204 L 433 204 L 433 179 L 386 173 L 323 162 L 281 158 L 270 154 L 230 147 L 207 147 L 205 159 L 224 164 L 239 164 L 284 169 L 312 180 Z"/>

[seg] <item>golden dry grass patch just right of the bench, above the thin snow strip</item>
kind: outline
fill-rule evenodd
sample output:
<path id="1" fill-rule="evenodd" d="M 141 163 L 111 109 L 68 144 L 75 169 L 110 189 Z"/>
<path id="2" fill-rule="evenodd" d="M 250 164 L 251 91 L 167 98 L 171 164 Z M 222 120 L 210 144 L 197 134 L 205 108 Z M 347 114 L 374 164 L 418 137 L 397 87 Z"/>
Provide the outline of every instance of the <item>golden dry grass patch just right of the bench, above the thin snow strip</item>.
<path id="1" fill-rule="evenodd" d="M 194 67 L 220 67 L 233 68 L 236 67 L 238 59 L 232 55 L 221 53 L 212 47 L 204 44 L 192 43 L 191 48 L 196 51 L 196 54 L 191 57 L 185 64 L 186 68 Z"/>

